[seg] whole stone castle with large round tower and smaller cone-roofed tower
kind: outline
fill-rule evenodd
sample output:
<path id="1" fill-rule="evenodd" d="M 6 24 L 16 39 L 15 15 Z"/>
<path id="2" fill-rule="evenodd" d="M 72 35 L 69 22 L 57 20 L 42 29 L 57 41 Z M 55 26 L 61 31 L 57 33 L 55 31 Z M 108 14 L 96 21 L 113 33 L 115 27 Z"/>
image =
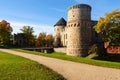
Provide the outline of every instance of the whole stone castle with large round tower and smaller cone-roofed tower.
<path id="1" fill-rule="evenodd" d="M 91 20 L 91 10 L 87 4 L 68 8 L 68 20 L 61 18 L 54 25 L 55 47 L 67 47 L 67 55 L 87 56 L 89 47 L 102 41 L 93 29 L 97 21 Z"/>

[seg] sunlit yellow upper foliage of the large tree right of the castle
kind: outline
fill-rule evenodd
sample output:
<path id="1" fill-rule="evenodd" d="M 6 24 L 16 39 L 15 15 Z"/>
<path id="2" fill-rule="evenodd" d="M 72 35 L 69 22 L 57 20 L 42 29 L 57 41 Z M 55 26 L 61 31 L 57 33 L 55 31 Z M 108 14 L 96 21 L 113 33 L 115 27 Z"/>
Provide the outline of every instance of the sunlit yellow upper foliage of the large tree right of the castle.
<path id="1" fill-rule="evenodd" d="M 98 20 L 97 25 L 94 26 L 94 29 L 97 33 L 104 32 L 108 30 L 110 27 L 119 26 L 120 25 L 120 10 L 115 9 L 111 13 L 106 13 L 105 17 L 101 17 Z"/>

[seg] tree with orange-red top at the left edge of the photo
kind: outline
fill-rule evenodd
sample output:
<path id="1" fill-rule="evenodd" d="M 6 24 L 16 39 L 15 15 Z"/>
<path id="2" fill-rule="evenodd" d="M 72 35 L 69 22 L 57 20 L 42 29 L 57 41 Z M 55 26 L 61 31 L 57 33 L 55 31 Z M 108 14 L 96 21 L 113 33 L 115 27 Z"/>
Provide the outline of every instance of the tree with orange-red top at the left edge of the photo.
<path id="1" fill-rule="evenodd" d="M 0 22 L 0 46 L 9 46 L 11 43 L 12 27 L 5 20 Z"/>

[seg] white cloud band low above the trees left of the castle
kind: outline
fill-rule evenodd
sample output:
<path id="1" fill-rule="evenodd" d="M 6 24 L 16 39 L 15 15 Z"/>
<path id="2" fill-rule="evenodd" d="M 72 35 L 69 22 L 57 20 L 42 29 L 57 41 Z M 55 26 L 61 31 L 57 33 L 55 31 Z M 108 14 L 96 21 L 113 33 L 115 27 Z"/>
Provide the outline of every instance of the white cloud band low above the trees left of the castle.
<path id="1" fill-rule="evenodd" d="M 29 23 L 23 23 L 23 22 L 16 22 L 16 21 L 8 21 L 10 22 L 13 33 L 20 33 L 20 29 L 22 29 L 23 26 L 31 26 L 34 29 L 34 34 L 39 35 L 40 32 L 46 32 L 48 34 L 54 33 L 54 27 L 45 25 L 45 24 L 29 24 Z"/>

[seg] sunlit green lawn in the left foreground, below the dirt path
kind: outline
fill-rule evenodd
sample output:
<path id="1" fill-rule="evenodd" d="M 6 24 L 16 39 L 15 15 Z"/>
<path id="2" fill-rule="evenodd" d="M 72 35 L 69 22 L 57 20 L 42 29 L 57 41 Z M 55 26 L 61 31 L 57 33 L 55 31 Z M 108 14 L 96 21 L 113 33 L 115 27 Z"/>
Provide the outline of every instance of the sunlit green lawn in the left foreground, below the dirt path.
<path id="1" fill-rule="evenodd" d="M 23 57 L 0 52 L 0 80 L 65 80 L 51 69 Z"/>

